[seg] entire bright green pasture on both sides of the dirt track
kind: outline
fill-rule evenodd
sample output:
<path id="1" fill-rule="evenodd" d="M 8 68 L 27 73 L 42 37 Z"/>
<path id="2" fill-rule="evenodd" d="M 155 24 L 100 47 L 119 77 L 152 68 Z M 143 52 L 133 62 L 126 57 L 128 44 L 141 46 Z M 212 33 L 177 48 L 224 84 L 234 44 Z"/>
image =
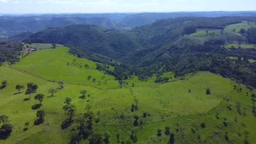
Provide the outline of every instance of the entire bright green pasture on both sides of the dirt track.
<path id="1" fill-rule="evenodd" d="M 256 117 L 252 113 L 251 100 L 253 92 L 229 79 L 199 71 L 186 76 L 185 80 L 170 79 L 160 84 L 154 83 L 155 76 L 146 82 L 138 81 L 134 76 L 127 80 L 128 87 L 118 87 L 114 76 L 96 70 L 95 62 L 70 55 L 68 50 L 68 47 L 63 46 L 38 50 L 9 66 L 46 79 L 64 81 L 65 88 L 58 90 L 53 97 L 48 90 L 59 88 L 56 82 L 0 67 L 0 81 L 8 82 L 7 87 L 0 89 L 0 113 L 7 115 L 9 123 L 13 124 L 9 138 L 0 140 L 0 143 L 69 143 L 71 131 L 77 128 L 77 124 L 61 129 L 66 117 L 62 110 L 66 105 L 66 97 L 71 98 L 71 104 L 77 107 L 75 119 L 79 113 L 88 112 L 85 106 L 91 105 L 90 111 L 95 113 L 95 118 L 100 118 L 100 122 L 94 122 L 94 133 L 109 131 L 110 143 L 118 143 L 117 134 L 120 141 L 130 140 L 131 131 L 137 136 L 136 143 L 167 143 L 169 136 L 165 135 L 166 126 L 170 126 L 170 132 L 174 133 L 175 143 L 243 143 L 245 131 L 249 133 L 247 140 L 250 143 L 256 142 Z M 84 67 L 85 64 L 89 65 L 88 69 Z M 109 69 L 114 68 L 110 66 Z M 97 81 L 87 80 L 88 75 Z M 164 76 L 173 77 L 173 73 Z M 107 83 L 104 83 L 105 79 Z M 24 101 L 24 98 L 30 97 L 25 94 L 26 88 L 17 93 L 15 86 L 26 86 L 28 82 L 36 83 L 38 90 L 31 94 L 31 100 Z M 135 87 L 131 87 L 131 83 L 135 83 Z M 206 94 L 206 88 L 211 89 L 211 94 Z M 88 92 L 85 99 L 80 99 L 80 91 L 83 89 Z M 191 92 L 188 92 L 189 89 Z M 34 125 L 37 110 L 32 110 L 31 106 L 39 103 L 34 100 L 38 93 L 45 95 L 41 109 L 45 111 L 46 117 L 43 124 Z M 91 96 L 87 97 L 88 94 Z M 138 99 L 138 110 L 132 111 L 134 99 Z M 240 114 L 237 112 L 238 102 L 241 105 Z M 143 117 L 143 113 L 147 113 L 147 117 Z M 133 126 L 135 115 L 138 116 L 138 127 Z M 228 125 L 224 126 L 224 121 Z M 30 125 L 24 131 L 26 122 L 30 122 Z M 206 128 L 201 128 L 201 123 L 205 123 Z M 158 129 L 162 129 L 161 136 L 157 135 Z M 214 134 L 216 131 L 218 134 Z M 89 141 L 85 139 L 80 143 Z"/>

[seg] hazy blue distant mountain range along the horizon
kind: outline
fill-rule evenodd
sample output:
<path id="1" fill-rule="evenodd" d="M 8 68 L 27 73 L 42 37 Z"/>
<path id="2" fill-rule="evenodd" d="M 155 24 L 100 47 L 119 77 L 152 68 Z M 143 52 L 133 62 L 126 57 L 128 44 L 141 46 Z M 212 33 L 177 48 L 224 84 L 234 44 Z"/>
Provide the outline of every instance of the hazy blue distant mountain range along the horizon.
<path id="1" fill-rule="evenodd" d="M 156 20 L 174 17 L 256 16 L 256 11 L 208 11 L 175 13 L 111 13 L 111 14 L 1 14 L 0 39 L 26 32 L 74 24 L 96 25 L 107 29 L 134 28 Z M 25 37 L 24 37 L 25 38 Z"/>

